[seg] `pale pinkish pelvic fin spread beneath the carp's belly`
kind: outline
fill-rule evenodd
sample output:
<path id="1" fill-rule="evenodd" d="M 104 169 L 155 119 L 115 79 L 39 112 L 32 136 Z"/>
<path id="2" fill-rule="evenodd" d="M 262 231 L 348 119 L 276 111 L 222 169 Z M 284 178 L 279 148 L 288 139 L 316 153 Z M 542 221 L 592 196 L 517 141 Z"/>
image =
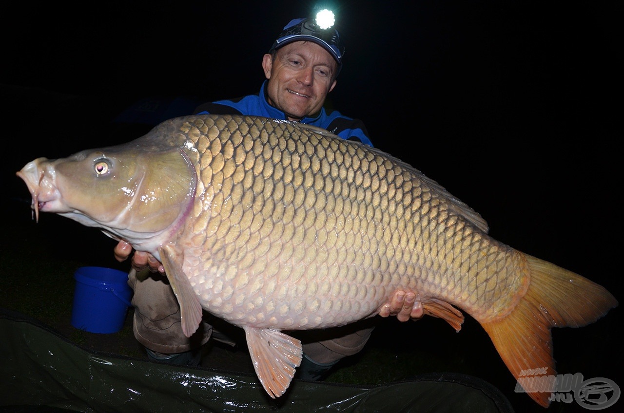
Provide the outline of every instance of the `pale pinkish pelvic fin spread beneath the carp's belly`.
<path id="1" fill-rule="evenodd" d="M 245 336 L 253 368 L 269 396 L 286 392 L 301 364 L 301 341 L 281 331 L 245 327 Z"/>

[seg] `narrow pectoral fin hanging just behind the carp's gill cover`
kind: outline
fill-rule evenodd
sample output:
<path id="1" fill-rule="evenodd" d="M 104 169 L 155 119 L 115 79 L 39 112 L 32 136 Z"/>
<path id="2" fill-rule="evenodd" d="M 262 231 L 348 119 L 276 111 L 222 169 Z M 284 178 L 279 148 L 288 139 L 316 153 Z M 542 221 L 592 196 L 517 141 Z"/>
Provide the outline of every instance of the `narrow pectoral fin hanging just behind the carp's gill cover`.
<path id="1" fill-rule="evenodd" d="M 182 331 L 185 336 L 190 337 L 197 331 L 202 321 L 202 305 L 187 275 L 182 271 L 182 255 L 174 251 L 170 245 L 160 248 L 159 253 L 169 284 L 180 304 Z"/>

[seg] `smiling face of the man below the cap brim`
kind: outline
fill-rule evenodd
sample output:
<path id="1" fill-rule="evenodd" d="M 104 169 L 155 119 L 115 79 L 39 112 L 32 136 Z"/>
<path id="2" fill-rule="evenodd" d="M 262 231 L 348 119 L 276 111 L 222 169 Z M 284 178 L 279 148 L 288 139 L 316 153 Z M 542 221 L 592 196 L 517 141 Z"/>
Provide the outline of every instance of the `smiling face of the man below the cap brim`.
<path id="1" fill-rule="evenodd" d="M 268 102 L 282 110 L 290 120 L 315 114 L 334 89 L 338 63 L 314 42 L 298 41 L 277 50 L 262 60 L 268 84 Z"/>

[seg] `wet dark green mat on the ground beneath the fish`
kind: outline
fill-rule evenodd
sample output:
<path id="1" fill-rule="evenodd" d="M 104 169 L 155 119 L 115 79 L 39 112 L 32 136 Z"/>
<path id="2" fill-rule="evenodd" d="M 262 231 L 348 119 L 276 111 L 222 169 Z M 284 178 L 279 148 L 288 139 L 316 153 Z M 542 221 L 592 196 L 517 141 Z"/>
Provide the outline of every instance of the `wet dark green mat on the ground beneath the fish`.
<path id="1" fill-rule="evenodd" d="M 497 389 L 464 375 L 382 386 L 294 380 L 274 400 L 253 375 L 87 351 L 9 311 L 0 311 L 0 334 L 5 412 L 512 412 Z"/>

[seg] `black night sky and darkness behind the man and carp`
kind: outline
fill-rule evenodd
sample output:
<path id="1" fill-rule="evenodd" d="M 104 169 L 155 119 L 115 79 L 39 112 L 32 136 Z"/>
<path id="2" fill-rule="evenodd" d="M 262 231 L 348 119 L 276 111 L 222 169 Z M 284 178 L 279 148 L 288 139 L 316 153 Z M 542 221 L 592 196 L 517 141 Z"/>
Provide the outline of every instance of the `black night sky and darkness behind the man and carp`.
<path id="1" fill-rule="evenodd" d="M 153 126 L 130 110 L 142 100 L 184 115 L 194 103 L 256 93 L 261 57 L 276 34 L 315 5 L 3 6 L 1 182 L 9 224 L 34 225 L 29 194 L 15 176 L 27 162 L 139 137 Z M 494 238 L 602 284 L 621 303 L 622 4 L 351 0 L 333 8 L 346 53 L 329 107 L 362 119 L 376 147 L 472 206 Z M 59 218 L 67 230 L 51 234 L 46 220 L 38 231 L 59 256 L 116 264 L 114 243 L 99 231 Z M 21 245 L 4 240 L 2 248 L 9 254 Z M 33 260 L 37 255 L 32 251 Z M 624 386 L 621 313 L 613 309 L 600 327 L 555 329 L 560 372 Z M 410 326 L 409 338 L 401 330 L 387 339 L 439 345 L 418 327 Z M 457 352 L 495 354 L 479 334 L 475 347 Z M 514 380 L 505 374 L 500 361 L 482 366 L 481 377 L 511 399 Z"/>

